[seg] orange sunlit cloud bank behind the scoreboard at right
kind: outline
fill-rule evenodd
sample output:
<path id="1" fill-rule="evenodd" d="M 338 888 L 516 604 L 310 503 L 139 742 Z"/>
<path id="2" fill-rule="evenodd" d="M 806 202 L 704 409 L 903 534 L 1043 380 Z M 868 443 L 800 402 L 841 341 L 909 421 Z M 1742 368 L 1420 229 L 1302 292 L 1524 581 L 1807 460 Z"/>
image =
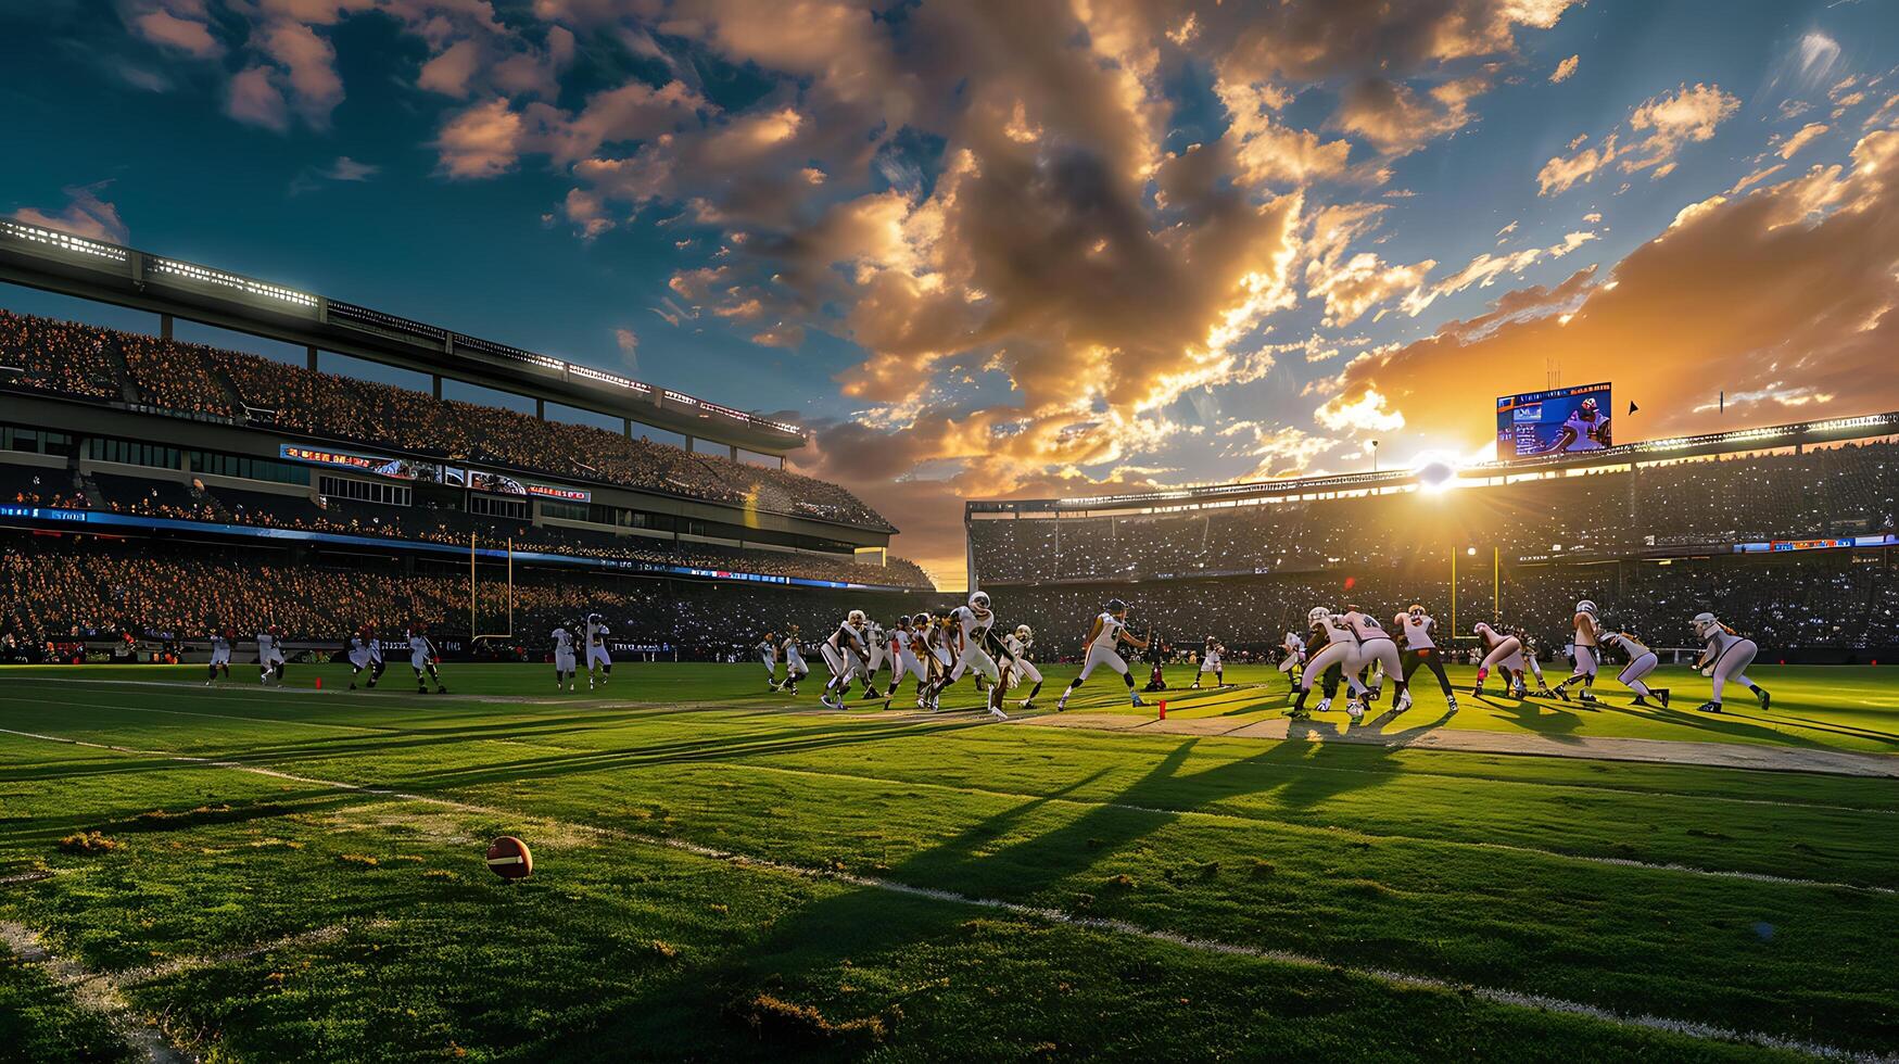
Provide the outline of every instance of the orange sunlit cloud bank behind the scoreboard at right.
<path id="1" fill-rule="evenodd" d="M 1538 289 L 1504 321 L 1453 323 L 1354 361 L 1327 408 L 1403 416 L 1476 445 L 1491 431 L 1493 393 L 1534 386 L 1548 361 L 1646 397 L 1645 435 L 1774 420 L 1793 407 L 1808 416 L 1836 397 L 1852 397 L 1853 412 L 1893 408 L 1899 133 L 1867 135 L 1852 160 L 1683 211 L 1608 281 Z M 1728 391 L 1728 422 L 1719 405 L 1698 403 L 1715 390 Z"/>

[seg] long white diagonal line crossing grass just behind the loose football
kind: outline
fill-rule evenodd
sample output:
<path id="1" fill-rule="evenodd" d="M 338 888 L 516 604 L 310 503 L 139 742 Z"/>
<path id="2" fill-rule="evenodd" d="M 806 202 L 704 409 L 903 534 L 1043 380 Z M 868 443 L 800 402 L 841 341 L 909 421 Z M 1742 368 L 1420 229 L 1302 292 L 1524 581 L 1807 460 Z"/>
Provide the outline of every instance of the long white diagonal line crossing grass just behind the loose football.
<path id="1" fill-rule="evenodd" d="M 1523 1007 L 1523 1009 L 1542 1009 L 1542 1011 L 1548 1011 L 1548 1013 L 1561 1013 L 1561 1015 L 1569 1015 L 1569 1016 L 1582 1016 L 1582 1018 L 1589 1018 L 1589 1020 L 1597 1020 L 1597 1022 L 1605 1022 L 1605 1024 L 1612 1024 L 1612 1026 L 1633 1028 L 1633 1030 L 1650 1030 L 1650 1032 L 1662 1032 L 1662 1034 L 1677 1034 L 1677 1036 L 1694 1037 L 1694 1039 L 1700 1039 L 1700 1041 L 1722 1041 L 1722 1043 L 1736 1043 L 1736 1045 L 1758 1045 L 1758 1047 L 1764 1047 L 1764 1049 L 1781 1049 L 1781 1051 L 1789 1051 L 1789 1053 L 1804 1053 L 1808 1056 L 1817 1056 L 1817 1058 L 1823 1058 L 1823 1060 L 1850 1060 L 1850 1062 L 1855 1062 L 1855 1064 L 1899 1064 L 1899 1054 L 1880 1054 L 1880 1053 L 1848 1051 L 1848 1049 L 1840 1049 L 1840 1047 L 1834 1047 L 1834 1045 L 1821 1045 L 1821 1043 L 1802 1041 L 1802 1039 L 1795 1039 L 1795 1037 L 1787 1037 L 1787 1036 L 1776 1036 L 1776 1034 L 1766 1034 L 1766 1032 L 1738 1032 L 1738 1030 L 1732 1030 L 1732 1028 L 1724 1028 L 1724 1026 L 1719 1026 L 1719 1024 L 1707 1024 L 1707 1022 L 1702 1022 L 1702 1020 L 1679 1020 L 1679 1018 L 1656 1016 L 1656 1015 L 1648 1015 L 1648 1013 L 1627 1015 L 1627 1013 L 1616 1013 L 1614 1009 L 1605 1009 L 1601 1005 L 1589 1005 L 1586 1001 L 1569 1001 L 1569 999 L 1563 999 L 1563 998 L 1548 998 L 1548 996 L 1542 996 L 1542 994 L 1529 994 L 1529 992 L 1521 992 L 1521 990 L 1502 990 L 1502 988 L 1493 988 L 1493 986 L 1476 986 L 1476 984 L 1464 984 L 1464 982 L 1453 982 L 1453 980 L 1445 980 L 1445 978 L 1436 978 L 1436 977 L 1428 977 L 1428 975 L 1415 975 L 1415 973 L 1403 973 L 1403 971 L 1388 971 L 1388 969 L 1377 969 L 1377 967 L 1343 965 L 1343 963 L 1327 961 L 1327 960 L 1318 958 L 1318 956 L 1297 954 L 1297 952 L 1291 952 L 1291 950 L 1274 950 L 1274 948 L 1265 948 L 1265 946 L 1242 946 L 1242 944 L 1236 944 L 1236 942 L 1219 942 L 1219 940 L 1213 940 L 1213 939 L 1198 939 L 1198 937 L 1193 937 L 1193 935 L 1181 935 L 1177 931 L 1160 931 L 1160 929 L 1155 929 L 1155 927 L 1141 927 L 1139 923 L 1132 923 L 1132 922 L 1126 922 L 1126 920 L 1103 920 L 1103 918 L 1092 918 L 1092 916 L 1075 916 L 1075 914 L 1063 912 L 1060 908 L 1048 908 L 1048 906 L 1014 902 L 1014 901 L 1005 901 L 1005 899 L 974 897 L 974 895 L 965 895 L 965 893 L 957 893 L 957 891 L 950 891 L 950 889 L 942 889 L 942 887 L 921 887 L 921 885 L 904 884 L 904 882 L 898 882 L 898 880 L 881 880 L 881 878 L 874 878 L 874 876 L 858 876 L 858 874 L 841 872 L 841 870 L 836 870 L 836 868 L 813 868 L 813 866 L 807 866 L 807 864 L 792 864 L 792 863 L 786 863 L 786 861 L 773 861 L 769 857 L 754 857 L 754 855 L 746 855 L 746 853 L 735 853 L 735 851 L 727 851 L 727 849 L 718 849 L 718 847 L 712 847 L 712 846 L 703 846 L 703 844 L 682 840 L 682 838 L 659 838 L 659 836 L 627 832 L 627 830 L 608 828 L 608 826 L 598 826 L 598 825 L 583 825 L 583 823 L 573 823 L 573 821 L 560 821 L 560 819 L 555 819 L 555 817 L 537 817 L 537 815 L 532 815 L 532 813 L 520 813 L 518 809 L 498 809 L 498 808 L 492 808 L 492 806 L 475 806 L 475 804 L 469 804 L 469 802 L 456 802 L 454 798 L 441 798 L 441 796 L 429 796 L 429 794 L 410 794 L 410 792 L 403 792 L 403 790 L 395 790 L 395 788 L 378 788 L 378 787 L 367 787 L 367 785 L 359 785 L 359 783 L 342 783 L 342 781 L 334 781 L 334 779 L 304 777 L 304 775 L 296 775 L 296 773 L 289 773 L 289 771 L 270 770 L 270 768 L 264 768 L 264 766 L 251 766 L 251 764 L 241 764 L 241 762 L 226 762 L 226 760 L 213 760 L 213 758 L 197 758 L 197 756 L 190 756 L 190 754 L 169 754 L 165 750 L 137 750 L 137 749 L 127 749 L 127 747 L 114 747 L 110 743 L 89 743 L 89 741 L 84 741 L 84 739 L 66 739 L 66 737 L 61 737 L 61 735 L 44 735 L 44 733 L 34 733 L 34 732 L 17 732 L 17 730 L 11 730 L 11 728 L 0 728 L 0 733 L 25 735 L 28 739 L 42 739 L 42 741 L 47 741 L 47 743 L 68 743 L 68 745 L 76 745 L 76 747 L 93 747 L 93 749 L 114 750 L 114 752 L 122 752 L 122 754 L 163 756 L 163 758 L 171 758 L 171 760 L 179 760 L 179 762 L 209 764 L 209 766 L 215 766 L 215 768 L 228 768 L 228 770 L 234 770 L 234 771 L 251 771 L 251 773 L 268 775 L 268 777 L 275 777 L 275 779 L 287 779 L 287 781 L 292 781 L 292 783 L 310 783 L 310 785 L 315 785 L 315 787 L 330 787 L 330 788 L 336 788 L 336 790 L 351 790 L 351 792 L 359 792 L 359 794 L 391 796 L 391 798 L 399 798 L 399 800 L 404 800 L 404 802 L 422 802 L 422 804 L 429 804 L 429 806 L 442 806 L 442 808 L 450 808 L 450 809 L 461 809 L 461 811 L 467 811 L 467 813 L 479 813 L 479 815 L 484 815 L 484 817 L 513 817 L 513 819 L 526 819 L 526 821 L 541 821 L 541 823 L 547 823 L 547 825 L 558 825 L 558 826 L 566 826 L 570 830 L 577 830 L 577 832 L 585 832 L 585 834 L 598 834 L 598 836 L 619 838 L 619 840 L 625 840 L 625 842 L 636 842 L 636 844 L 642 844 L 642 846 L 676 849 L 676 851 L 682 851 L 682 853 L 693 853 L 697 857 L 706 857 L 706 859 L 712 859 L 712 861 L 724 861 L 724 863 L 731 863 L 731 864 L 739 864 L 739 866 L 750 866 L 750 868 L 765 868 L 765 870 L 782 872 L 782 874 L 790 874 L 790 876 L 799 876 L 799 878 L 807 878 L 807 880 L 832 880 L 832 882 L 849 884 L 849 885 L 855 885 L 855 887 L 875 889 L 875 891 L 885 891 L 885 893 L 896 893 L 896 895 L 906 895 L 906 897 L 919 897 L 919 899 L 942 901 L 942 902 L 951 902 L 951 904 L 967 904 L 967 906 L 974 906 L 974 908 L 989 908 L 989 910 L 995 910 L 995 912 L 1008 912 L 1008 914 L 1014 914 L 1014 916 L 1025 916 L 1025 918 L 1041 920 L 1044 923 L 1082 927 L 1082 929 L 1090 929 L 1090 931 L 1109 931 L 1109 933 L 1126 935 L 1126 937 L 1134 937 L 1134 939 L 1145 939 L 1145 940 L 1151 940 L 1151 942 L 1166 942 L 1166 944 L 1174 944 L 1174 946 L 1183 946 L 1183 948 L 1196 950 L 1196 952 L 1257 958 L 1257 960 L 1267 960 L 1267 961 L 1276 961 L 1276 963 L 1286 963 L 1286 965 L 1295 965 L 1295 967 L 1307 967 L 1307 969 L 1320 969 L 1320 971 L 1346 971 L 1346 973 L 1356 973 L 1356 975 L 1362 975 L 1362 977 L 1367 977 L 1367 978 L 1375 978 L 1375 980 L 1381 980 L 1381 982 L 1388 982 L 1388 984 L 1394 984 L 1394 986 L 1419 988 L 1419 990 L 1464 992 L 1464 994 L 1470 994 L 1470 996 L 1479 998 L 1483 1001 L 1491 1001 L 1495 1005 L 1514 1005 L 1514 1007 Z"/>

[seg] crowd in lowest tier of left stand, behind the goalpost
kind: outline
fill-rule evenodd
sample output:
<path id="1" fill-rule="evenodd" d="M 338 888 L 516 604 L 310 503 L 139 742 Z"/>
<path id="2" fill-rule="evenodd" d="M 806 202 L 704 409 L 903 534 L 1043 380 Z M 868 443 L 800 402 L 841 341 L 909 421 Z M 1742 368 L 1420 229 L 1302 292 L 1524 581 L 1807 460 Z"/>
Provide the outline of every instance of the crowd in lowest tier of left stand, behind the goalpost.
<path id="1" fill-rule="evenodd" d="M 467 572 L 403 572 L 389 559 L 294 562 L 283 551 L 203 551 L 154 542 L 0 542 L 0 638 L 15 646 L 74 640 L 196 640 L 268 625 L 291 642 L 342 644 L 363 625 L 399 636 L 420 621 L 439 636 L 469 635 Z M 503 631 L 505 585 L 477 583 L 484 633 Z M 520 570 L 515 640 L 545 650 L 555 625 L 598 612 L 615 642 L 724 657 L 796 623 L 811 640 L 853 608 L 894 618 L 923 598 L 904 593 L 720 585 L 611 574 Z M 813 654 L 813 661 L 817 656 Z"/>

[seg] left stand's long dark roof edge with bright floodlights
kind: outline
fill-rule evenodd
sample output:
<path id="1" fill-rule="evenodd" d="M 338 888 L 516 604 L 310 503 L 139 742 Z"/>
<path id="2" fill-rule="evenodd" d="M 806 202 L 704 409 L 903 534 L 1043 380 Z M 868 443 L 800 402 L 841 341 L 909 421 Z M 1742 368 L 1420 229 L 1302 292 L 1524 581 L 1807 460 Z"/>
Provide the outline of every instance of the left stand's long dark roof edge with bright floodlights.
<path id="1" fill-rule="evenodd" d="M 0 281 L 169 314 L 782 456 L 799 426 L 228 270 L 0 218 Z"/>

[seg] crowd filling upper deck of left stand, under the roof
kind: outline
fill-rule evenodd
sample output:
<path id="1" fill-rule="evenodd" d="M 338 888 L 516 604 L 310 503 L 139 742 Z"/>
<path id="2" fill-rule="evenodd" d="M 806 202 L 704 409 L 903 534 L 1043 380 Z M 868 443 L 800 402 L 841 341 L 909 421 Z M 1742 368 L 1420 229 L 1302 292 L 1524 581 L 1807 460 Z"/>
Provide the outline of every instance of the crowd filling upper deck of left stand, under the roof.
<path id="1" fill-rule="evenodd" d="M 543 422 L 258 355 L 0 310 L 13 386 L 139 401 L 180 416 L 247 420 L 429 460 L 507 466 L 771 513 L 891 528 L 849 490 L 594 426 Z"/>

